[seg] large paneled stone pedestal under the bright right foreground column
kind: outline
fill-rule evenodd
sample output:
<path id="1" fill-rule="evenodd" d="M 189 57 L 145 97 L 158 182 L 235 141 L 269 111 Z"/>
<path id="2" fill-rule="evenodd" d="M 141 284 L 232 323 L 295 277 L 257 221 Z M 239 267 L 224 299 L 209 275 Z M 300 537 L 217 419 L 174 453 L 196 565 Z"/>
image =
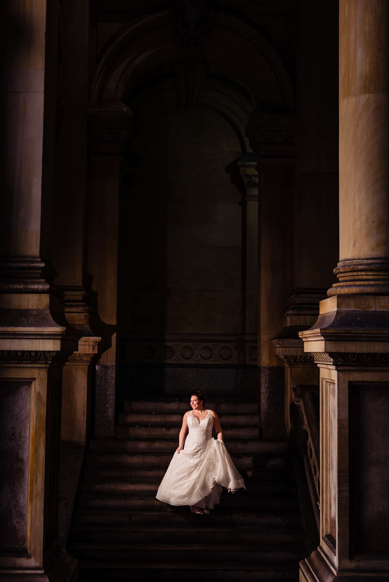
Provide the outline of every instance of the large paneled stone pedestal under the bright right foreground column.
<path id="1" fill-rule="evenodd" d="M 320 545 L 300 580 L 389 577 L 388 330 L 388 297 L 336 296 L 300 333 L 320 368 L 321 483 Z"/>

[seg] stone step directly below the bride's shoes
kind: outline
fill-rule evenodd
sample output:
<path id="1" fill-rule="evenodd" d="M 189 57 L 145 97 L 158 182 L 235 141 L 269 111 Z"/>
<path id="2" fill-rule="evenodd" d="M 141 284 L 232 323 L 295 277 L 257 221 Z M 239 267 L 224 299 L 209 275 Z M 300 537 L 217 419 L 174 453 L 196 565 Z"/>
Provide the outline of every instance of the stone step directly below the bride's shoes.
<path id="1" fill-rule="evenodd" d="M 172 508 L 171 510 L 150 510 L 150 509 L 115 509 L 115 508 L 96 508 L 82 507 L 77 508 L 75 512 L 75 524 L 94 524 L 110 526 L 133 527 L 157 527 L 163 524 L 165 527 L 192 527 L 199 526 L 199 519 L 206 518 L 207 527 L 217 530 L 220 527 L 253 527 L 256 530 L 274 531 L 275 529 L 285 530 L 285 528 L 300 527 L 299 513 L 293 510 L 284 510 L 277 512 L 267 508 L 257 512 L 252 509 L 242 512 L 237 509 L 234 513 L 228 508 L 217 506 L 210 515 L 196 516 L 190 513 L 188 507 Z"/>

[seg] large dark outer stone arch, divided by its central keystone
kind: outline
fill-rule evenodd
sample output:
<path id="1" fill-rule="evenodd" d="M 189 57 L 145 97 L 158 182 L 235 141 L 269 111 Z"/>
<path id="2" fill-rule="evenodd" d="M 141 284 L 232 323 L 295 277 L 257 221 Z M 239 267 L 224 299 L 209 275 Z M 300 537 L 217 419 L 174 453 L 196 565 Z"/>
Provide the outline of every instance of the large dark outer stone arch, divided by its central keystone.
<path id="1" fill-rule="evenodd" d="M 137 76 L 163 62 L 179 61 L 181 44 L 171 10 L 144 16 L 116 33 L 102 53 L 91 87 L 91 105 L 123 101 Z M 254 27 L 218 11 L 202 54 L 217 71 L 225 71 L 253 95 L 253 109 L 268 102 L 291 111 L 291 80 L 274 47 Z"/>

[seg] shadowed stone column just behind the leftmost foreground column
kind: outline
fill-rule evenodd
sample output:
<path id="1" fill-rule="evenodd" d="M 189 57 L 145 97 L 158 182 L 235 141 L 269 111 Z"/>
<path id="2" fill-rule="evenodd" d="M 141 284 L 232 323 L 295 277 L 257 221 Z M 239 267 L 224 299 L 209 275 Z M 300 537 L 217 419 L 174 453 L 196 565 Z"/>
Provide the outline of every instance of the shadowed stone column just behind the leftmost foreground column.
<path id="1" fill-rule="evenodd" d="M 86 289 L 89 3 L 61 3 L 61 54 L 52 200 L 51 260 L 64 294 L 65 317 L 79 333 L 62 372 L 59 534 L 66 543 L 89 432 L 91 369 L 101 337 L 91 329 Z"/>

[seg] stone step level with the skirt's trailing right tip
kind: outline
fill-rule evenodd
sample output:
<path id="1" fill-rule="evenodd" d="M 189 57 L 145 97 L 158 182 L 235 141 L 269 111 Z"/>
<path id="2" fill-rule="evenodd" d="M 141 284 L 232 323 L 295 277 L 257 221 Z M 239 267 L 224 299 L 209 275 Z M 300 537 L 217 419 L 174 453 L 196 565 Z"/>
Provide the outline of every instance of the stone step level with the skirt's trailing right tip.
<path id="1" fill-rule="evenodd" d="M 124 481 L 101 477 L 99 480 L 84 480 L 82 491 L 96 491 L 99 493 L 126 493 L 137 495 L 156 495 L 160 481 Z M 293 493 L 293 490 L 292 490 Z M 264 483 L 246 483 L 246 494 L 249 495 L 291 495 L 290 484 L 284 482 Z"/>

